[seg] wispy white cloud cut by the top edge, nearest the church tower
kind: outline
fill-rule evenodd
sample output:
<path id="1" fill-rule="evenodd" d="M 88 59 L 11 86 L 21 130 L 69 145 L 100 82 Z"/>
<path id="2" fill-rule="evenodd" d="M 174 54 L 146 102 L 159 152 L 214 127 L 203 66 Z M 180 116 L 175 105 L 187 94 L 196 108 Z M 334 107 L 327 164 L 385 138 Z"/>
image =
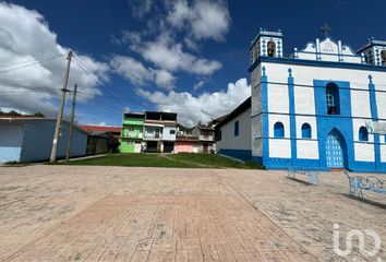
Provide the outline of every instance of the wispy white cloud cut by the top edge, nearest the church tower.
<path id="1" fill-rule="evenodd" d="M 176 1 L 168 14 L 168 22 L 179 29 L 186 29 L 196 40 L 224 40 L 229 29 L 230 15 L 222 1 L 198 0 L 189 4 L 186 0 Z"/>

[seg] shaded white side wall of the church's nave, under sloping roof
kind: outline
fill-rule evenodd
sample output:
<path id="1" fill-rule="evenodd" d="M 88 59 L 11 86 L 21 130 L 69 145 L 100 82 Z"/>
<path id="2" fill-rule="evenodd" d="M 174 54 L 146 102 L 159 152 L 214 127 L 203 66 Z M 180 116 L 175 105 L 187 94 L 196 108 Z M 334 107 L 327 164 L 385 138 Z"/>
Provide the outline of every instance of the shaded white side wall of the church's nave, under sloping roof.
<path id="1" fill-rule="evenodd" d="M 234 122 L 239 121 L 239 135 L 234 136 Z M 220 128 L 221 140 L 216 142 L 216 150 L 251 150 L 251 108 Z"/>

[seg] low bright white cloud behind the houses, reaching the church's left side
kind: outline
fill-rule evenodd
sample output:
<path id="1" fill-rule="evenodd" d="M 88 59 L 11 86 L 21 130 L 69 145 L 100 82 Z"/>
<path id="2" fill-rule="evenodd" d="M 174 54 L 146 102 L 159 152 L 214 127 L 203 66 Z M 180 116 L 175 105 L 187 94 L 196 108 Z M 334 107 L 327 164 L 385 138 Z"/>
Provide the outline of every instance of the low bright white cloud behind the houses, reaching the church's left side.
<path id="1" fill-rule="evenodd" d="M 239 104 L 251 96 L 251 86 L 246 79 L 229 83 L 226 91 L 203 93 L 198 96 L 182 92 L 148 92 L 138 90 L 138 95 L 156 104 L 157 109 L 178 112 L 178 121 L 186 127 L 193 127 L 198 121 L 207 122 L 229 114 Z"/>

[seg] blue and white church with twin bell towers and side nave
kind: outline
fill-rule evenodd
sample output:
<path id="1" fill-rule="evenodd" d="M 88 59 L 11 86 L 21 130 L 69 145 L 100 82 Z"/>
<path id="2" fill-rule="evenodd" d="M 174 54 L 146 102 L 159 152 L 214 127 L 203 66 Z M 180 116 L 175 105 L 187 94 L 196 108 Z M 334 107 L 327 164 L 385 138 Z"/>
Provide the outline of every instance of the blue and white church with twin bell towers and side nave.
<path id="1" fill-rule="evenodd" d="M 251 98 L 219 124 L 220 154 L 268 169 L 386 172 L 386 41 L 354 51 L 322 29 L 324 39 L 287 57 L 280 31 L 260 31 Z"/>

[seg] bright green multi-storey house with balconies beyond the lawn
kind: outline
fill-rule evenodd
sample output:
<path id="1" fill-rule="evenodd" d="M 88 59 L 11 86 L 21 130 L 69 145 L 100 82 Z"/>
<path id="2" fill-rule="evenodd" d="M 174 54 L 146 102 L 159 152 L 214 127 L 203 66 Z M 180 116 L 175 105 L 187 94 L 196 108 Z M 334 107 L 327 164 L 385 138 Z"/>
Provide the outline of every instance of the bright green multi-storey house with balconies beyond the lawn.
<path id="1" fill-rule="evenodd" d="M 121 153 L 140 153 L 143 147 L 145 115 L 124 112 L 121 133 Z"/>

